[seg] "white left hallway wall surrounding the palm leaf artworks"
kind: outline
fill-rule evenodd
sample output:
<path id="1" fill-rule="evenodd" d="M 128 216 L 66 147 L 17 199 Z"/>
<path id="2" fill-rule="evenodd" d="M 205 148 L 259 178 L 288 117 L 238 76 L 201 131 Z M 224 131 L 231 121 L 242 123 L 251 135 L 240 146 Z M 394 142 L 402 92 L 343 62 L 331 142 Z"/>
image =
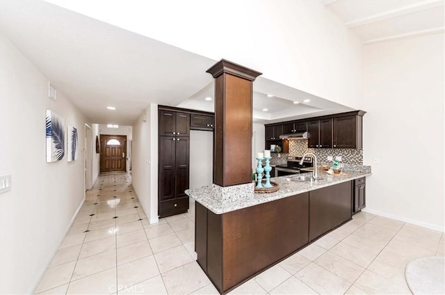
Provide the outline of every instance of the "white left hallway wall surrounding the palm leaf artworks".
<path id="1" fill-rule="evenodd" d="M 0 31 L 0 294 L 30 294 L 84 198 L 86 118 L 62 91 L 48 97 L 48 80 Z M 45 160 L 45 110 L 79 131 L 79 157 Z M 65 141 L 66 143 L 66 141 Z"/>

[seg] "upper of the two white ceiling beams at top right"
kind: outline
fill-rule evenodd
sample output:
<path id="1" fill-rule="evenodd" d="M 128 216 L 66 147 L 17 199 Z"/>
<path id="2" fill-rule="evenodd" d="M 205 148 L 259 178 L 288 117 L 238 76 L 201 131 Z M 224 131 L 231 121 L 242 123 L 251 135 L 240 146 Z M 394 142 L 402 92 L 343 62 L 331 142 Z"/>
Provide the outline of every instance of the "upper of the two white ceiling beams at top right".
<path id="1" fill-rule="evenodd" d="M 410 4 L 408 6 L 403 6 L 401 8 L 387 10 L 383 13 L 377 13 L 369 17 L 363 17 L 361 19 L 354 19 L 350 22 L 346 22 L 345 26 L 348 28 L 355 28 L 356 26 L 364 26 L 366 24 L 371 24 L 373 22 L 380 22 L 384 19 L 390 19 L 392 17 L 398 17 L 401 15 L 408 15 L 410 13 L 416 13 L 421 10 L 426 10 L 429 8 L 435 8 L 439 6 L 444 6 L 443 0 L 426 0 L 417 3 Z"/>

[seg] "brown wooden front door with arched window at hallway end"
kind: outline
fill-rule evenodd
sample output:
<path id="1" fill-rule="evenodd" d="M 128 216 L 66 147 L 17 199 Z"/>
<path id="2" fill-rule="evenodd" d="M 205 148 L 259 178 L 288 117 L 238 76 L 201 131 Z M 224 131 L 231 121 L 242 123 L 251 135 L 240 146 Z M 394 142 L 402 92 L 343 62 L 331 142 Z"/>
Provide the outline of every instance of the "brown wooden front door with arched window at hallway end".
<path id="1" fill-rule="evenodd" d="M 127 136 L 100 136 L 100 172 L 127 171 Z"/>

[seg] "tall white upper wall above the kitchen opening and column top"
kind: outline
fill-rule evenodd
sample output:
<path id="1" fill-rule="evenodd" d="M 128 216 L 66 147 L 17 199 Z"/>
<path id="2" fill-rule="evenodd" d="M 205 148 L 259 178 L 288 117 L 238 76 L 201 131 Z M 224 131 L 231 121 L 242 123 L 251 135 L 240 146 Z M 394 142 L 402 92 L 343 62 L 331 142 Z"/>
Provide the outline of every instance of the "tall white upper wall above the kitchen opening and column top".
<path id="1" fill-rule="evenodd" d="M 48 1 L 216 61 L 226 58 L 270 80 L 358 108 L 362 42 L 321 1 L 115 0 L 107 1 L 106 9 L 91 1 Z"/>

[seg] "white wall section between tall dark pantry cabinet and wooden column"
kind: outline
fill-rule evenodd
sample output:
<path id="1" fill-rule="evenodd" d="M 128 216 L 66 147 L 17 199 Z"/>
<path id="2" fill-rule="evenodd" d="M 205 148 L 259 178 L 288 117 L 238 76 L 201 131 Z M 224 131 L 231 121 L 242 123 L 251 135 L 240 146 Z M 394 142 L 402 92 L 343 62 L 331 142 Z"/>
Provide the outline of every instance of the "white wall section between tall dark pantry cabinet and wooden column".
<path id="1" fill-rule="evenodd" d="M 190 189 L 213 184 L 213 132 L 190 131 Z"/>

